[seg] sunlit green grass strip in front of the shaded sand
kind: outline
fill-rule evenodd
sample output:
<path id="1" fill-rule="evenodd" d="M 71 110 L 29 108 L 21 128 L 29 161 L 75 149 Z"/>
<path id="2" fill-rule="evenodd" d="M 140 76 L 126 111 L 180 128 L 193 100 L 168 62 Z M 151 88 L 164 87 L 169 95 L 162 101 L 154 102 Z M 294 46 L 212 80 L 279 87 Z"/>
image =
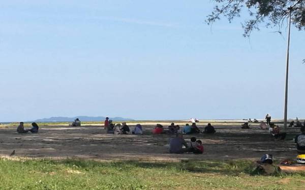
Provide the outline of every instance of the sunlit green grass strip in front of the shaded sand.
<path id="1" fill-rule="evenodd" d="M 251 175 L 250 161 L 0 159 L 0 189 L 302 189 L 304 174 Z"/>

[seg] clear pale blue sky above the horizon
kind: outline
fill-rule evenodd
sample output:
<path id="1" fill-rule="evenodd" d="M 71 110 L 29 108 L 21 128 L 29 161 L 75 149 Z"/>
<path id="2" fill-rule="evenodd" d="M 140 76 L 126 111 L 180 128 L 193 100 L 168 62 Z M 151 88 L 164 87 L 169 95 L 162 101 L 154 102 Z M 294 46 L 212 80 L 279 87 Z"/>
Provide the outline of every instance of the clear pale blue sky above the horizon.
<path id="1" fill-rule="evenodd" d="M 286 28 L 212 27 L 211 1 L 0 4 L 0 121 L 52 116 L 283 118 Z M 292 29 L 289 118 L 305 118 L 304 31 Z"/>

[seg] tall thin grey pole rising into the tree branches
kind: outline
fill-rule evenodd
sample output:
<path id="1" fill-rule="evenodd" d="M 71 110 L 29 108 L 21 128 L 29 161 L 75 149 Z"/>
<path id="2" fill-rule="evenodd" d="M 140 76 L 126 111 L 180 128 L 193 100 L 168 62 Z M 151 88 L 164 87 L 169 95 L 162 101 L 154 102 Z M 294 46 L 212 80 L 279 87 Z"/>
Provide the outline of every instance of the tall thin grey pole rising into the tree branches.
<path id="1" fill-rule="evenodd" d="M 287 60 L 286 60 L 286 81 L 285 81 L 285 107 L 284 107 L 284 129 L 287 130 L 287 103 L 288 103 L 288 70 L 289 70 L 289 46 L 290 46 L 290 24 L 292 7 L 289 10 L 289 26 L 288 26 L 288 41 L 287 41 Z"/>

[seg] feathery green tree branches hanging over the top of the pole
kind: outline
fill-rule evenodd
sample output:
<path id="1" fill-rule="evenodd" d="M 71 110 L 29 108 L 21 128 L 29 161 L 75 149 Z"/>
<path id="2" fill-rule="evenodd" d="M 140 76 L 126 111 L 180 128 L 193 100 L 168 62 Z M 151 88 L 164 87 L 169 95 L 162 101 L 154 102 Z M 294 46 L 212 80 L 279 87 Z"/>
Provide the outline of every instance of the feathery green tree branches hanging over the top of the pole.
<path id="1" fill-rule="evenodd" d="M 242 10 L 247 10 L 250 19 L 242 24 L 245 32 L 243 36 L 249 37 L 253 30 L 259 30 L 260 24 L 265 27 L 282 28 L 284 21 L 291 11 L 291 23 L 299 30 L 305 29 L 305 0 L 214 0 L 216 6 L 206 22 L 212 24 L 221 16 L 231 22 L 239 17 Z"/>

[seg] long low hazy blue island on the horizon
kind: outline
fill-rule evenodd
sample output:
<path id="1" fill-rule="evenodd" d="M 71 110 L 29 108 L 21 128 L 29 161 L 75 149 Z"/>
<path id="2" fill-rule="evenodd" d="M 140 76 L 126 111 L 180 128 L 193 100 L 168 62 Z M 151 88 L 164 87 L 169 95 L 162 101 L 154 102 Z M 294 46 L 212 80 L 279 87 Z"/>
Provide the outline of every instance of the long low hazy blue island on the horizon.
<path id="1" fill-rule="evenodd" d="M 69 118 L 69 117 L 43 118 L 43 119 L 35 120 L 34 122 L 73 122 L 76 118 L 78 118 L 82 122 L 98 122 L 98 121 L 104 121 L 106 119 L 106 117 L 75 116 L 73 118 Z M 133 119 L 120 118 L 120 117 L 114 117 L 109 119 L 112 121 L 134 121 Z"/>

